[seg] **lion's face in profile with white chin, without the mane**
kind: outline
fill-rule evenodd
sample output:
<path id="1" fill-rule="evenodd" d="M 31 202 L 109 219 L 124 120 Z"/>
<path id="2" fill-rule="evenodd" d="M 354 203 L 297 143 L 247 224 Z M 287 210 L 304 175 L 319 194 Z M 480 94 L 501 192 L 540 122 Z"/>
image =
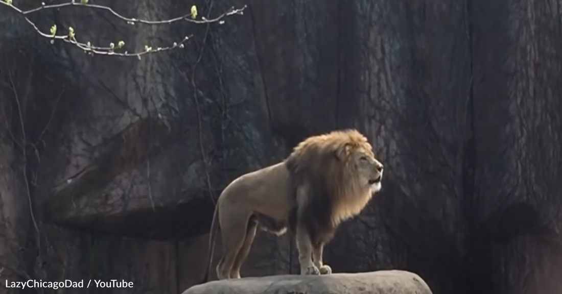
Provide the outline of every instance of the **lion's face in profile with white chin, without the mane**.
<path id="1" fill-rule="evenodd" d="M 371 192 L 375 193 L 380 191 L 383 178 L 383 164 L 375 159 L 373 151 L 365 149 L 356 149 L 353 152 L 353 159 L 355 160 L 355 168 L 359 173 L 361 183 L 369 186 Z"/>

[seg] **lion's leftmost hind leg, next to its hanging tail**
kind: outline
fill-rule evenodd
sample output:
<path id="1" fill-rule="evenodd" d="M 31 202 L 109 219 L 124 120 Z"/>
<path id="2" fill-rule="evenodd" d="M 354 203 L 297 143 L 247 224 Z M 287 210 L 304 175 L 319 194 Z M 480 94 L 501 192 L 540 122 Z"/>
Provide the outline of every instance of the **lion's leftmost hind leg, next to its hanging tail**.
<path id="1" fill-rule="evenodd" d="M 216 267 L 218 279 L 229 279 L 234 268 L 234 263 L 246 240 L 250 212 L 245 209 L 222 209 L 220 218 L 221 237 L 223 243 L 223 258 Z"/>

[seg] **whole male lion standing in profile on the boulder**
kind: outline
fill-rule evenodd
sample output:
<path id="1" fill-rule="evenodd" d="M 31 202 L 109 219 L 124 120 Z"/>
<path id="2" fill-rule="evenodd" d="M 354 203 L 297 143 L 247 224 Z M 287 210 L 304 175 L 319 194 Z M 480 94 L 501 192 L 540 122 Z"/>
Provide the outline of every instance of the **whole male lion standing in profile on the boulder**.
<path id="1" fill-rule="evenodd" d="M 366 137 L 350 129 L 308 137 L 283 162 L 236 178 L 217 200 L 203 282 L 209 281 L 217 226 L 223 243 L 218 279 L 241 278 L 257 228 L 296 238 L 301 275 L 331 274 L 322 261 L 324 245 L 380 191 L 382 176 Z"/>

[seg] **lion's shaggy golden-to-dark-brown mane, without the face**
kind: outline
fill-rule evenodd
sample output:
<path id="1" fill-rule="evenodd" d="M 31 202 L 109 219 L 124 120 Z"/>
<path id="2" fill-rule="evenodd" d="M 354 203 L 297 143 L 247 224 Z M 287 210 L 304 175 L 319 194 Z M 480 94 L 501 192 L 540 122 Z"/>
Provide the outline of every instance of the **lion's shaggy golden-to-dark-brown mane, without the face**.
<path id="1" fill-rule="evenodd" d="M 340 130 L 312 136 L 298 144 L 285 165 L 295 187 L 308 185 L 310 189 L 306 213 L 302 216 L 312 243 L 332 239 L 341 214 L 348 203 L 359 196 L 369 197 L 361 188 L 351 154 L 353 150 L 371 151 L 367 138 L 357 130 Z M 351 209 L 351 208 L 350 208 Z M 294 230 L 296 221 L 290 220 Z"/>

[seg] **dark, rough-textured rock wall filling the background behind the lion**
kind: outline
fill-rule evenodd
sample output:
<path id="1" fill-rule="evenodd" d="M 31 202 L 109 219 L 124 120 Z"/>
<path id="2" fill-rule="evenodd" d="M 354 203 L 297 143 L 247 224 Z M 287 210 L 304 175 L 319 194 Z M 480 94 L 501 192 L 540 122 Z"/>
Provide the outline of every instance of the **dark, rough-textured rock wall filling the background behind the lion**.
<path id="1" fill-rule="evenodd" d="M 406 268 L 436 294 L 559 292 L 559 2 L 95 4 L 151 20 L 248 8 L 210 26 L 132 26 L 83 7 L 29 15 L 131 50 L 194 34 L 141 60 L 51 45 L 2 10 L 2 278 L 179 293 L 203 275 L 212 198 L 229 181 L 307 135 L 357 127 L 386 172 L 326 247 L 335 272 Z M 260 233 L 242 275 L 297 273 L 294 247 Z"/>

